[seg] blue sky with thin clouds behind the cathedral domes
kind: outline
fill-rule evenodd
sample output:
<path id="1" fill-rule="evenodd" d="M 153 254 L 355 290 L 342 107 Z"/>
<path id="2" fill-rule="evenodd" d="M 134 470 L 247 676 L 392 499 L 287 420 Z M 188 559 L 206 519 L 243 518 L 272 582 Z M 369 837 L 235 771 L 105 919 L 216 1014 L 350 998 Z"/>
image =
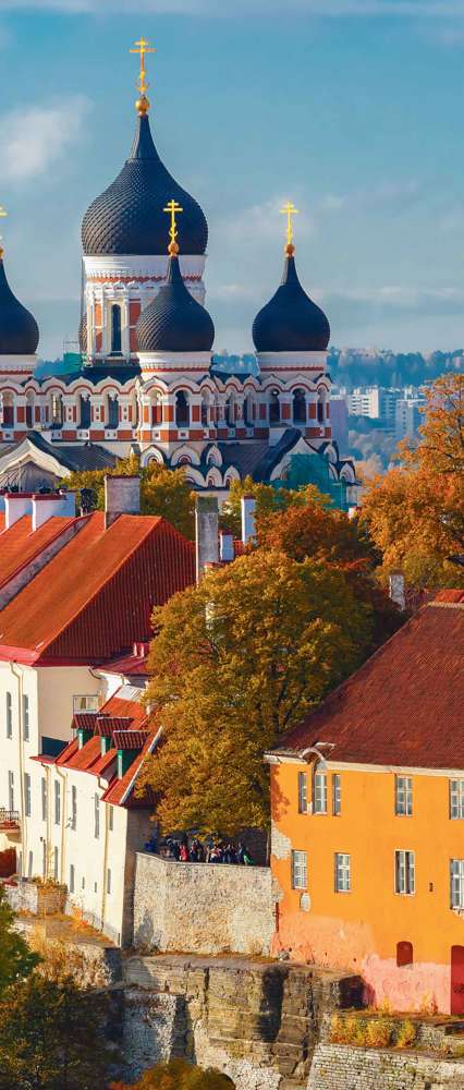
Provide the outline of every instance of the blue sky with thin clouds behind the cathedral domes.
<path id="1" fill-rule="evenodd" d="M 155 142 L 209 222 L 216 351 L 253 347 L 286 199 L 334 346 L 464 346 L 464 0 L 0 0 L 0 231 L 40 355 L 76 337 L 81 221 L 130 150 L 141 34 Z"/>

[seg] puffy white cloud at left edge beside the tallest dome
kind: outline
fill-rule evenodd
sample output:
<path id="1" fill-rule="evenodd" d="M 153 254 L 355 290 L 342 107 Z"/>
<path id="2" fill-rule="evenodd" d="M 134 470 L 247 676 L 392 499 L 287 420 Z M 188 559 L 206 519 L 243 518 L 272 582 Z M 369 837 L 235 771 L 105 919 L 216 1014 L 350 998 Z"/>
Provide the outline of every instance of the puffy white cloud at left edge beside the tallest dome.
<path id="1" fill-rule="evenodd" d="M 0 181 L 26 182 L 53 167 L 80 140 L 89 108 L 84 95 L 74 95 L 60 106 L 0 116 Z"/>

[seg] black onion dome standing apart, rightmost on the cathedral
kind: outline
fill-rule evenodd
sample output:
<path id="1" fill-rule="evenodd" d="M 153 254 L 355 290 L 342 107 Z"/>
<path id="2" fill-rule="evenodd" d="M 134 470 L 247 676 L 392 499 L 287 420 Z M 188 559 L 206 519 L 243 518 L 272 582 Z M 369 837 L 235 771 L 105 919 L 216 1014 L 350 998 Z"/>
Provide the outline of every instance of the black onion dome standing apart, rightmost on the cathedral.
<path id="1" fill-rule="evenodd" d="M 293 256 L 285 257 L 282 282 L 256 315 L 252 334 L 257 352 L 321 352 L 327 349 L 329 323 L 320 306 L 303 290 Z"/>

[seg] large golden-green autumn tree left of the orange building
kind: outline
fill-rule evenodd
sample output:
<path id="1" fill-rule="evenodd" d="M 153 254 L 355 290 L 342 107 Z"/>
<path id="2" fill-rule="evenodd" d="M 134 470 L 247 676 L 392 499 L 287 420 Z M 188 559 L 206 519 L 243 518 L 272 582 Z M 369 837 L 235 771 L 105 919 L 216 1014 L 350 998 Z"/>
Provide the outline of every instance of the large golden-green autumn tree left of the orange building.
<path id="1" fill-rule="evenodd" d="M 343 573 L 257 550 L 157 608 L 147 701 L 163 742 L 145 765 L 164 828 L 266 824 L 262 754 L 361 664 L 368 605 Z"/>

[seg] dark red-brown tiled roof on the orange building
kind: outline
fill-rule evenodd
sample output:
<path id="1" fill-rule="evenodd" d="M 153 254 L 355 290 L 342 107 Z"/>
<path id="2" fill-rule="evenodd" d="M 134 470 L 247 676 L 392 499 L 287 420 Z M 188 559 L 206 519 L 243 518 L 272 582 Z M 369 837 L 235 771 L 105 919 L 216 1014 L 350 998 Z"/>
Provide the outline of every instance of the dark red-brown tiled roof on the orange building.
<path id="1" fill-rule="evenodd" d="M 424 606 L 274 752 L 326 742 L 335 763 L 464 768 L 463 646 L 464 605 Z"/>

